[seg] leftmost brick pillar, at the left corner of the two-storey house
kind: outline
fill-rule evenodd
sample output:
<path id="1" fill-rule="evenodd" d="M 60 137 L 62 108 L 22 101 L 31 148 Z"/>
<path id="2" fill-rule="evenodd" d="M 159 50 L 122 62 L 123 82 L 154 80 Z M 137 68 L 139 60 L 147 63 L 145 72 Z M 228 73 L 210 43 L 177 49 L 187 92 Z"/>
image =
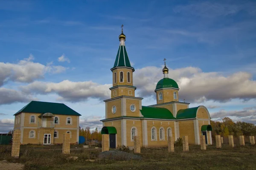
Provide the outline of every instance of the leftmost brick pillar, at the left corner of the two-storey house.
<path id="1" fill-rule="evenodd" d="M 16 129 L 13 131 L 11 156 L 15 158 L 19 158 L 20 156 L 20 130 L 19 129 Z"/>

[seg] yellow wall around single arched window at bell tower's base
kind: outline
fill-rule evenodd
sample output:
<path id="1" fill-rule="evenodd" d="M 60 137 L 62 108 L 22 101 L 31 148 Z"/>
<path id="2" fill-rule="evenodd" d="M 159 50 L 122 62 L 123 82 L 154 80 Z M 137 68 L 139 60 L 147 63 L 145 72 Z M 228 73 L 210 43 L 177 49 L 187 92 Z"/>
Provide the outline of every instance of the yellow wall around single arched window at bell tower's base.
<path id="1" fill-rule="evenodd" d="M 133 123 L 134 122 L 134 123 Z M 137 128 L 137 136 L 140 136 L 140 145 L 143 145 L 142 136 L 142 122 L 140 120 L 126 120 L 126 140 L 127 146 L 134 146 L 134 142 L 131 142 L 131 128 Z"/>

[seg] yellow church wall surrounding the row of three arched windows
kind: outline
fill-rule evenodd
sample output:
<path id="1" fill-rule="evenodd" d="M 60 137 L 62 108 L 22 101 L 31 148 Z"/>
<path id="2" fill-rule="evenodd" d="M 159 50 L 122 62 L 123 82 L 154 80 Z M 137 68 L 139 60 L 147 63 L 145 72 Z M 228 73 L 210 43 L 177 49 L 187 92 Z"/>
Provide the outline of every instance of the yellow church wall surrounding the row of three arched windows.
<path id="1" fill-rule="evenodd" d="M 154 125 L 153 125 L 154 122 Z M 162 122 L 162 125 L 161 125 Z M 168 125 L 169 122 L 169 125 Z M 157 129 L 157 141 L 151 141 L 151 128 L 156 127 Z M 159 129 L 160 127 L 164 128 L 165 139 L 160 141 Z M 174 122 L 173 121 L 156 121 L 156 120 L 147 120 L 147 131 L 148 131 L 148 147 L 158 147 L 158 146 L 167 146 L 167 128 L 172 128 L 172 136 L 175 137 L 174 131 Z"/>

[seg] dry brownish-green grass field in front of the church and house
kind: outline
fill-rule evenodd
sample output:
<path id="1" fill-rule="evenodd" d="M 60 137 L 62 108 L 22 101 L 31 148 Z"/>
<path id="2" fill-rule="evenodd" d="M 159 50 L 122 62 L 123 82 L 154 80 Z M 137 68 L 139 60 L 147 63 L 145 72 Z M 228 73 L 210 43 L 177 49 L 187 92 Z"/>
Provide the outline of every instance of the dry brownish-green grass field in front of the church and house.
<path id="1" fill-rule="evenodd" d="M 25 164 L 24 170 L 256 170 L 256 146 L 221 149 L 207 146 L 189 146 L 189 152 L 175 147 L 175 153 L 166 148 L 142 148 L 141 161 L 99 160 L 101 149 L 83 149 L 72 146 L 70 155 L 61 154 L 61 146 L 21 146 L 20 158 L 11 158 L 11 146 L 0 146 L 0 160 Z M 132 151 L 131 151 L 132 153 Z M 78 156 L 77 161 L 67 160 Z M 94 160 L 94 162 L 89 161 Z"/>

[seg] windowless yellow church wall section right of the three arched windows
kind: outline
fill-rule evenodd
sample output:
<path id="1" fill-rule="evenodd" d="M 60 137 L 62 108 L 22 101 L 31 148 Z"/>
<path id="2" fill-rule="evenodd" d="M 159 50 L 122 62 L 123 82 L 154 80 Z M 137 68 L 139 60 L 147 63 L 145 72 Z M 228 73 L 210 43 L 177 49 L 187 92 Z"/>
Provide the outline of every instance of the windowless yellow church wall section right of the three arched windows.
<path id="1" fill-rule="evenodd" d="M 180 138 L 188 136 L 189 144 L 195 144 L 194 121 L 179 121 Z"/>

